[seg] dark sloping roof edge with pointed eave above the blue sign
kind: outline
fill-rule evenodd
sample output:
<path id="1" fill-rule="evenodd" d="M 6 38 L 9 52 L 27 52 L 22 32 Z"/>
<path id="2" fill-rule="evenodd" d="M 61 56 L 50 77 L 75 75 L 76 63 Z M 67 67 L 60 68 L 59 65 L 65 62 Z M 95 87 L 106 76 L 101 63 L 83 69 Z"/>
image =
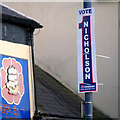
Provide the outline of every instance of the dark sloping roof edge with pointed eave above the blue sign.
<path id="1" fill-rule="evenodd" d="M 25 14 L 8 7 L 7 5 L 0 3 L 0 7 L 0 14 L 2 15 L 2 20 L 9 20 L 10 22 L 23 24 L 34 29 L 43 27 L 39 21 L 28 17 Z M 16 20 L 18 20 L 18 22 L 16 22 Z M 29 24 L 28 22 L 30 22 L 31 24 Z"/>

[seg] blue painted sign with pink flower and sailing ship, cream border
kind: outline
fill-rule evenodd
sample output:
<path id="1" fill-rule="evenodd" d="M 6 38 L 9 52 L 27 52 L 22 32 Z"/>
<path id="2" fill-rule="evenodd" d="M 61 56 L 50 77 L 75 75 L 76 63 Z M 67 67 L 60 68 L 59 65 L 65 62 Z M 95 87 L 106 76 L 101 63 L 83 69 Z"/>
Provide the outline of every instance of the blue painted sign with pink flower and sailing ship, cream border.
<path id="1" fill-rule="evenodd" d="M 30 47 L 0 40 L 0 119 L 34 113 Z"/>

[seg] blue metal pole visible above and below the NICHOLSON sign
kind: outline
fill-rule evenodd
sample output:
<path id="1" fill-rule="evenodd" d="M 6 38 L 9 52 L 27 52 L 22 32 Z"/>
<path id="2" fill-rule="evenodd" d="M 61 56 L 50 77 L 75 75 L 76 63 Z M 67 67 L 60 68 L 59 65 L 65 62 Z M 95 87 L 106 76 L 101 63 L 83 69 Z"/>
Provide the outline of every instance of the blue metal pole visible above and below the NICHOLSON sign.
<path id="1" fill-rule="evenodd" d="M 91 8 L 91 0 L 83 1 L 84 8 Z M 93 120 L 93 93 L 85 93 L 85 120 Z"/>

